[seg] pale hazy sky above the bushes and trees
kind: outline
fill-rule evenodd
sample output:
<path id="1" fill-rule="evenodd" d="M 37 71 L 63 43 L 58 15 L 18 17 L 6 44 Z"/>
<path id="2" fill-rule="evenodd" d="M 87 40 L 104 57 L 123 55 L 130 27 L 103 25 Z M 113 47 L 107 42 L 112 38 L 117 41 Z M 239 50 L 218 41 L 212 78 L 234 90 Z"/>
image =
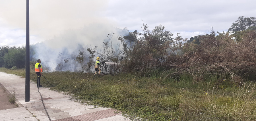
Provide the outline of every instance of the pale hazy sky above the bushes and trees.
<path id="1" fill-rule="evenodd" d="M 255 5 L 255 0 L 30 0 L 30 44 L 81 28 L 87 28 L 90 44 L 88 36 L 106 36 L 112 28 L 142 32 L 143 22 L 150 31 L 161 24 L 183 38 L 226 32 L 239 16 L 256 17 Z M 26 0 L 0 0 L 0 46 L 25 43 Z"/>

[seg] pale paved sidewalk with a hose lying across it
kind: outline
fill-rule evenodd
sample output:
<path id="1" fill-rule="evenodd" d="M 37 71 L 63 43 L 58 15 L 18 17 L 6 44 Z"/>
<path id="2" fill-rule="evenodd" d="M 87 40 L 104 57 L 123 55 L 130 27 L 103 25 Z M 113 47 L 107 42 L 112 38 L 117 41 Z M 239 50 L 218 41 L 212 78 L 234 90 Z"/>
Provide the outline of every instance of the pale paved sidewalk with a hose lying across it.
<path id="1" fill-rule="evenodd" d="M 44 110 L 36 83 L 30 81 L 30 101 L 25 102 L 25 78 L 0 72 L 0 83 L 13 93 L 15 90 L 17 108 L 0 110 L 1 121 L 49 121 Z M 121 112 L 115 109 L 81 105 L 70 95 L 40 87 L 43 102 L 51 120 L 56 121 L 125 121 Z M 1 104 L 0 104 L 1 106 Z"/>

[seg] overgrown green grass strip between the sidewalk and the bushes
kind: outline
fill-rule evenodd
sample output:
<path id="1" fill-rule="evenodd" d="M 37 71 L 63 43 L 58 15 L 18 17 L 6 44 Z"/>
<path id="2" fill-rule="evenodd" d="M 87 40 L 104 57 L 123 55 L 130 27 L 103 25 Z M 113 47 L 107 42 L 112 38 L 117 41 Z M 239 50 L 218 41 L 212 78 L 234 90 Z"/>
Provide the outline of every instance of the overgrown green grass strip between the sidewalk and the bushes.
<path id="1" fill-rule="evenodd" d="M 31 70 L 31 69 L 30 69 Z M 25 76 L 25 69 L 5 69 L 1 72 Z M 51 90 L 63 91 L 81 103 L 118 109 L 133 120 L 255 120 L 255 82 L 235 84 L 219 81 L 210 75 L 193 81 L 188 75 L 172 78 L 117 76 L 76 72 L 43 72 L 41 84 Z M 36 82 L 30 72 L 30 80 Z"/>

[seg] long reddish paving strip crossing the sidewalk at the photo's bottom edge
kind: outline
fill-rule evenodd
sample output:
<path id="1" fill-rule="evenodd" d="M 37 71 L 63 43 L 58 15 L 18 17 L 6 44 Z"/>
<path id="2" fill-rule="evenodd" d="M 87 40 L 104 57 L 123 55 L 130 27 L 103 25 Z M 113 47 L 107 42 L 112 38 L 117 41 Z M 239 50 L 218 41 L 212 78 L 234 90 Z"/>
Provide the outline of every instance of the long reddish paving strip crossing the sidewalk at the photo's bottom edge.
<path id="1" fill-rule="evenodd" d="M 57 119 L 54 121 L 93 121 L 93 120 L 99 120 L 102 118 L 108 118 L 111 116 L 122 114 L 121 112 L 117 112 L 117 113 L 116 112 L 117 110 L 115 109 L 107 109 L 107 110 L 101 110 L 101 111 L 91 112 L 87 114 L 82 114 L 79 116 Z"/>

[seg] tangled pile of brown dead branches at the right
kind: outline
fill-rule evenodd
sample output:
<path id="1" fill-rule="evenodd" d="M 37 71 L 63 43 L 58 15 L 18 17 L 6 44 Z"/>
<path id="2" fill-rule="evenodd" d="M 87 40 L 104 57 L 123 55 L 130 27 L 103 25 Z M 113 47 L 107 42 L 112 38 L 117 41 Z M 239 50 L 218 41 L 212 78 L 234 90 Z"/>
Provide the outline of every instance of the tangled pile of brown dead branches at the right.
<path id="1" fill-rule="evenodd" d="M 201 36 L 200 44 L 185 43 L 184 54 L 169 56 L 164 66 L 174 68 L 176 73 L 191 74 L 195 80 L 203 79 L 206 74 L 218 74 L 234 82 L 242 82 L 256 75 L 256 32 L 247 31 L 242 41 L 235 41 L 228 33 L 218 36 Z"/>

